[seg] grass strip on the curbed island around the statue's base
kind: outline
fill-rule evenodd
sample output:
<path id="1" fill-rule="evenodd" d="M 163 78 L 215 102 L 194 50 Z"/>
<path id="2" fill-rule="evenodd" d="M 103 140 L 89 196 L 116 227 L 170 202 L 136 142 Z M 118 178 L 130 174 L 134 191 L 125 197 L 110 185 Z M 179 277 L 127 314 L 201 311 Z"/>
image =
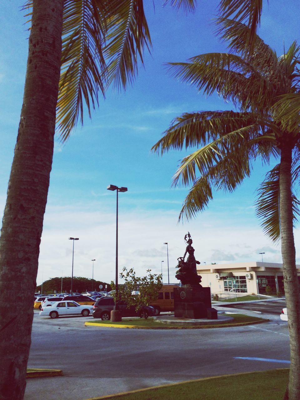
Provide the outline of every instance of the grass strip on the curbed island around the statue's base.
<path id="1" fill-rule="evenodd" d="M 234 321 L 232 322 L 226 322 L 226 326 L 230 325 L 236 325 L 236 324 L 250 324 L 252 322 L 257 322 L 257 321 L 263 321 L 262 318 L 258 317 L 252 317 L 248 315 L 242 315 L 242 314 L 230 314 L 231 317 L 234 318 Z M 178 327 L 178 326 L 170 326 L 166 324 L 160 324 L 159 322 L 154 322 L 152 318 L 148 318 L 145 320 L 144 318 L 130 318 L 128 320 L 122 320 L 120 322 L 111 322 L 111 321 L 102 321 L 102 320 L 95 320 L 92 321 L 95 324 L 99 325 L 130 325 L 130 326 L 140 326 L 140 327 L 149 327 L 149 328 L 157 328 L 157 329 L 187 329 L 187 326 L 184 327 Z M 209 327 L 212 328 L 222 328 L 222 324 L 219 325 L 210 325 Z M 202 325 L 202 326 L 191 326 L 191 328 L 208 328 L 207 325 Z"/>

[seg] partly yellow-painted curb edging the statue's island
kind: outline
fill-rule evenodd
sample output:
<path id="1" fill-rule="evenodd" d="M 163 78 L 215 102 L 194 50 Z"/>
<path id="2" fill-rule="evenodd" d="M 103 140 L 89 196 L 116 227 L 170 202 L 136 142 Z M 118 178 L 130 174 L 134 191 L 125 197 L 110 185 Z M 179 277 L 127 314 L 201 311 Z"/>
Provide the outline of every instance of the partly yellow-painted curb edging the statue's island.
<path id="1" fill-rule="evenodd" d="M 134 328 L 134 329 L 210 329 L 210 328 L 230 328 L 236 326 L 246 326 L 254 324 L 262 324 L 268 322 L 268 319 L 261 319 L 259 321 L 241 322 L 236 324 L 217 324 L 217 325 L 192 325 L 192 326 L 138 326 L 138 325 L 117 325 L 117 324 L 102 324 L 97 322 L 85 322 L 85 326 L 99 326 L 100 328 Z M 159 322 L 158 322 L 159 324 Z"/>

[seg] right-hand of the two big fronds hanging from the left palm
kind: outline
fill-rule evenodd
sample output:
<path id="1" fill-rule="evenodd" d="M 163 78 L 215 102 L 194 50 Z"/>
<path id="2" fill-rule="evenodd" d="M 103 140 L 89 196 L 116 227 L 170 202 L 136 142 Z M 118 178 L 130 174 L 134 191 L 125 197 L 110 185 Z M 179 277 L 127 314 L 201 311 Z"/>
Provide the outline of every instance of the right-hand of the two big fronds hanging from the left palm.
<path id="1" fill-rule="evenodd" d="M 106 46 L 108 82 L 121 90 L 131 84 L 138 70 L 138 58 L 143 64 L 144 48 L 150 51 L 151 39 L 142 0 L 112 0 L 108 2 Z"/>

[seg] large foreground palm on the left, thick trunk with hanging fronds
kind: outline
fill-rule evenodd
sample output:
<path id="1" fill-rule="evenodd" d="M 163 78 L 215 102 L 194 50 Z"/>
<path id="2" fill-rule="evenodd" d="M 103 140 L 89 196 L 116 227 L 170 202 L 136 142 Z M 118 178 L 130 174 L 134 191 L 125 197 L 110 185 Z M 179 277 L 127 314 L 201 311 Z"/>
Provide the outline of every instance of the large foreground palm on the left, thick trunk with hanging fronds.
<path id="1" fill-rule="evenodd" d="M 171 1 L 194 8 L 195 0 Z M 24 98 L 0 238 L 0 398 L 20 400 L 57 126 L 66 140 L 83 102 L 125 88 L 151 46 L 142 0 L 29 0 Z M 8 299 L 10 304 L 8 308 Z"/>

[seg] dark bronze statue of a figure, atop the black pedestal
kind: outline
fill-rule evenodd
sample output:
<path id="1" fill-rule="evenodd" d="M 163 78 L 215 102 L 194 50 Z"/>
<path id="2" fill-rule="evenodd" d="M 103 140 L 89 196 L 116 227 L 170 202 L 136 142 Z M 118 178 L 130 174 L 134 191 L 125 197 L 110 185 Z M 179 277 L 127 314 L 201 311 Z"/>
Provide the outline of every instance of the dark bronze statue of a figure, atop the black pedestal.
<path id="1" fill-rule="evenodd" d="M 186 239 L 188 238 L 188 240 Z M 178 260 L 178 271 L 176 271 L 175 277 L 179 279 L 182 285 L 199 285 L 201 282 L 201 276 L 197 274 L 196 264 L 200 264 L 199 261 L 195 259 L 194 251 L 192 247 L 192 239 L 190 232 L 184 236 L 184 241 L 186 242 L 186 251 L 183 257 L 179 257 Z M 186 254 L 188 253 L 188 258 L 184 261 Z M 201 285 L 200 285 L 201 286 Z M 202 287 L 202 286 L 201 286 Z"/>

